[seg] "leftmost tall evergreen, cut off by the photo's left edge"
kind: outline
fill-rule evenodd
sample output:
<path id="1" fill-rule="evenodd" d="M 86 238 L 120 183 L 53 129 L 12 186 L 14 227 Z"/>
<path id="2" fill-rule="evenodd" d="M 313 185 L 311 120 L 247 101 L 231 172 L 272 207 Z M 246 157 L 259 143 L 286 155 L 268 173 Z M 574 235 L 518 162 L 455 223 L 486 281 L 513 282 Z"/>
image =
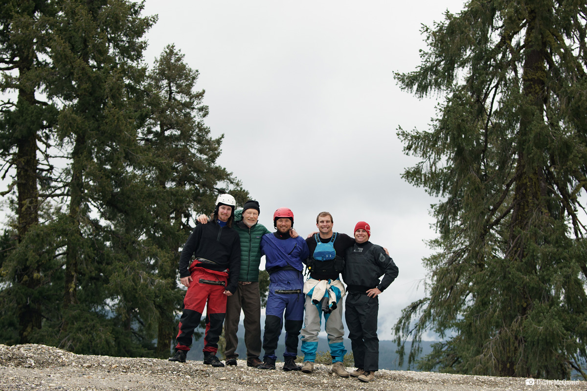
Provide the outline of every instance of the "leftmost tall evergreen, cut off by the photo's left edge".
<path id="1" fill-rule="evenodd" d="M 42 307 L 46 296 L 42 287 L 46 277 L 48 256 L 39 237 L 45 236 L 39 227 L 39 181 L 48 167 L 39 161 L 38 142 L 46 141 L 46 129 L 55 123 L 55 107 L 42 101 L 45 87 L 43 74 L 47 70 L 47 50 L 43 45 L 48 31 L 47 17 L 54 9 L 46 1 L 7 1 L 0 10 L 0 91 L 16 91 L 16 103 L 2 101 L 0 106 L 0 155 L 6 164 L 2 178 L 12 174 L 13 182 L 6 195 L 16 188 L 16 222 L 13 251 L 4 257 L 2 274 L 12 288 L 2 294 L 6 307 L 18 319 L 18 340 L 31 342 L 35 329 L 41 328 Z M 41 151 L 42 152 L 42 151 Z M 41 154 L 41 156 L 43 156 Z M 43 167 L 44 165 L 44 167 Z M 50 257 L 49 257 L 50 258 Z"/>

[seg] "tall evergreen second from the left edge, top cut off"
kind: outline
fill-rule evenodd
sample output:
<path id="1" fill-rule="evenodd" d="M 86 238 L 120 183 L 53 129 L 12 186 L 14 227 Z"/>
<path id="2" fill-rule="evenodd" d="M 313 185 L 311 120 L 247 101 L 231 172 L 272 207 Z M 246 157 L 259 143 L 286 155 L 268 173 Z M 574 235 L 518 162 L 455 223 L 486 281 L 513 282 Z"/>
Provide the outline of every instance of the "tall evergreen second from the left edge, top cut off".
<path id="1" fill-rule="evenodd" d="M 137 144 L 136 95 L 146 72 L 141 63 L 146 47 L 142 37 L 153 23 L 153 18 L 140 16 L 142 9 L 126 0 L 73 0 L 59 2 L 59 12 L 50 21 L 52 63 L 46 76 L 47 94 L 62 103 L 55 140 L 68 161 L 59 177 L 62 181 L 55 182 L 66 189 L 60 202 L 65 212 L 61 220 L 67 227 L 65 311 L 57 337 L 75 351 L 96 351 L 92 346 L 112 334 L 86 338 L 80 330 L 92 317 L 100 322 L 114 312 L 121 318 L 123 331 L 130 332 L 131 318 L 128 311 L 121 310 L 127 303 L 113 293 L 117 285 L 112 278 L 117 277 L 113 270 L 120 267 L 118 263 L 136 259 L 136 253 L 126 243 L 129 251 L 121 259 L 121 253 L 112 247 L 117 242 L 108 234 L 105 210 L 107 206 L 124 208 L 126 201 L 116 195 L 130 182 L 127 162 Z M 105 249 L 104 243 L 110 246 Z M 82 301 L 77 297 L 80 289 L 86 295 Z M 104 300 L 116 304 L 106 311 Z M 80 318 L 80 311 L 87 316 Z M 136 354 L 122 350 L 119 354 Z"/>

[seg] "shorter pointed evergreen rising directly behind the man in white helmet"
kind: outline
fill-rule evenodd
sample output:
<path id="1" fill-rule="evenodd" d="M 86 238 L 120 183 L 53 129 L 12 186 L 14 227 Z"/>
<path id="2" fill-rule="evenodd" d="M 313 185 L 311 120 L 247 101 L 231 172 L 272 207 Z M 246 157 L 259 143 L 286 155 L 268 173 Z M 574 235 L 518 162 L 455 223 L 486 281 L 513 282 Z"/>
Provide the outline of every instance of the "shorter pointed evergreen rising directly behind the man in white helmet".
<path id="1" fill-rule="evenodd" d="M 176 334 L 176 313 L 183 291 L 177 287 L 178 249 L 193 229 L 193 211 L 210 213 L 218 193 L 230 192 L 239 203 L 248 193 L 231 173 L 216 163 L 222 137 L 211 138 L 205 126 L 204 91 L 195 90 L 198 71 L 184 62 L 173 45 L 164 49 L 149 74 L 147 106 L 151 114 L 141 129 L 142 173 L 153 183 L 153 218 L 146 238 L 161 252 L 154 271 L 164 281 L 156 291 L 157 355 L 168 356 Z M 225 188 L 218 188 L 223 183 Z"/>

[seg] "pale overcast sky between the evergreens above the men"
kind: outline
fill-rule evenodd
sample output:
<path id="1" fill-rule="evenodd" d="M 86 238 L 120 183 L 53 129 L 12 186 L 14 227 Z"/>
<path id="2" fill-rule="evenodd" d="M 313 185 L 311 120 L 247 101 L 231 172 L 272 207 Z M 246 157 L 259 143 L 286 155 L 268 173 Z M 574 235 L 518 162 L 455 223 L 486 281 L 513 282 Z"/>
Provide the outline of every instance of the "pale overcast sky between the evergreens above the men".
<path id="1" fill-rule="evenodd" d="M 463 1 L 146 0 L 158 15 L 146 60 L 169 43 L 200 72 L 210 107 L 205 123 L 224 134 L 219 164 L 261 204 L 270 230 L 275 209 L 294 212 L 305 237 L 316 215 L 334 230 L 372 227 L 399 277 L 380 295 L 379 338 L 392 339 L 403 307 L 423 297 L 424 243 L 434 237 L 429 197 L 400 175 L 406 157 L 396 132 L 427 129 L 436 100 L 399 89 L 394 72 L 410 72 L 424 49 L 421 24 L 441 21 Z"/>

